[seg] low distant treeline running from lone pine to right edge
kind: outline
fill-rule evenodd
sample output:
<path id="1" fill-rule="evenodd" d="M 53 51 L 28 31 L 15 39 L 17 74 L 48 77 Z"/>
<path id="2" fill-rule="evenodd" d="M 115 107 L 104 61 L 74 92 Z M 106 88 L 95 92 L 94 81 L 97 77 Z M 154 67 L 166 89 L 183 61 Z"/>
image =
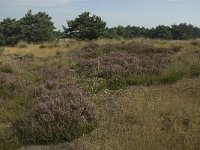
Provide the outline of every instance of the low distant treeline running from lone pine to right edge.
<path id="1" fill-rule="evenodd" d="M 153 39 L 188 40 L 200 38 L 200 28 L 186 23 L 171 26 L 159 25 L 151 29 L 136 26 L 118 26 L 107 29 L 105 36 L 108 38 L 147 37 Z"/>

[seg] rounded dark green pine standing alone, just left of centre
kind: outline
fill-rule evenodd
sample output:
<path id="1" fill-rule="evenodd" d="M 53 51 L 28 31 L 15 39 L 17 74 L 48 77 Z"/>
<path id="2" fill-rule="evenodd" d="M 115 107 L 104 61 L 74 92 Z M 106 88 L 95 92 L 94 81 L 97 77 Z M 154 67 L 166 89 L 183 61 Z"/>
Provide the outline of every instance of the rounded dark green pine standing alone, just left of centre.
<path id="1" fill-rule="evenodd" d="M 67 26 L 63 26 L 66 37 L 92 40 L 103 35 L 106 22 L 96 15 L 90 16 L 90 12 L 83 12 L 75 20 L 67 21 Z"/>

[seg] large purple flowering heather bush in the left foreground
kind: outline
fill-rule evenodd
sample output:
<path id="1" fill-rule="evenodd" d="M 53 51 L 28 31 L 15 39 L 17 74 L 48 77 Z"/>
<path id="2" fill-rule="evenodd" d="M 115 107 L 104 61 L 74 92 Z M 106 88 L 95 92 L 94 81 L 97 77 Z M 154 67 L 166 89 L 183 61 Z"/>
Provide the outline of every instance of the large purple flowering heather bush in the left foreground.
<path id="1" fill-rule="evenodd" d="M 92 131 L 96 107 L 73 83 L 46 90 L 32 110 L 13 124 L 24 144 L 71 141 Z"/>

